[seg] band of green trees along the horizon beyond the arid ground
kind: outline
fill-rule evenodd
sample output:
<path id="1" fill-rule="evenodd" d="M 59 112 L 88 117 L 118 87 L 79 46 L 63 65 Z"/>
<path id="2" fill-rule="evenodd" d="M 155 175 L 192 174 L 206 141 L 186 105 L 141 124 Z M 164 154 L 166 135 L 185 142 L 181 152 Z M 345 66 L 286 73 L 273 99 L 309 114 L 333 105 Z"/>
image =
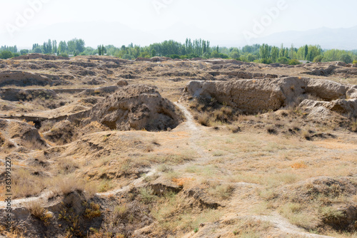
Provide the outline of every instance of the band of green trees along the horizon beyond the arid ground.
<path id="1" fill-rule="evenodd" d="M 74 38 L 70 41 L 45 41 L 42 44 L 34 43 L 31 50 L 18 51 L 16 46 L 1 46 L 0 58 L 12 58 L 27 53 L 55 54 L 57 56 L 89 56 L 109 55 L 124 59 L 151 58 L 165 56 L 170 58 L 234 58 L 238 61 L 256 63 L 283 63 L 298 64 L 307 62 L 343 61 L 357 63 L 357 51 L 343 51 L 338 49 L 323 50 L 321 46 L 305 45 L 299 48 L 291 45 L 285 47 L 255 44 L 253 46 L 220 47 L 211 46 L 210 41 L 203 39 L 191 40 L 186 38 L 184 43 L 177 41 L 163 41 L 152 43 L 149 46 L 137 46 L 130 43 L 128 46 L 116 47 L 113 45 L 99 45 L 97 48 L 86 47 L 84 40 Z"/>

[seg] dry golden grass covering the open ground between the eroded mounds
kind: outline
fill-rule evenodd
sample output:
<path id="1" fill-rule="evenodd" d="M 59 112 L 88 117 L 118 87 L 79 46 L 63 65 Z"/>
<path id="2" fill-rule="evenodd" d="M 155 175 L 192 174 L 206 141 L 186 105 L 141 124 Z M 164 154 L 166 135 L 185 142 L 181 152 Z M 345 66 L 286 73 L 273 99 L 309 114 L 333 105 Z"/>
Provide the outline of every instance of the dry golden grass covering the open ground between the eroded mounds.
<path id="1" fill-rule="evenodd" d="M 148 67 L 154 68 L 153 64 L 150 63 Z M 144 77 L 137 79 L 135 83 L 160 86 L 164 90 L 162 95 L 170 100 L 178 100 L 181 96 L 179 88 L 184 88 L 188 82 L 186 78 L 181 82 L 172 82 L 167 77 L 156 75 L 156 73 L 163 73 L 176 67 L 175 64 L 174 62 L 158 63 L 154 71 L 147 75 L 144 74 Z M 187 64 L 184 71 L 195 71 L 196 76 L 201 77 L 200 73 L 196 72 L 199 71 L 201 63 L 180 61 L 177 64 Z M 141 67 L 141 64 L 127 65 L 125 71 L 137 72 L 138 66 Z M 195 69 L 193 70 L 193 68 Z M 109 80 L 121 73 L 122 68 L 112 70 L 115 73 L 113 76 L 109 76 Z M 283 72 L 285 75 L 301 73 L 299 68 L 267 68 L 264 70 L 278 74 Z M 49 71 L 42 73 L 49 73 Z M 346 83 L 346 81 L 356 81 L 356 78 L 332 78 L 332 80 Z M 107 85 L 109 86 L 111 83 L 107 83 Z M 79 81 L 76 81 L 71 86 L 52 88 L 79 87 L 81 85 Z M 95 86 L 88 87 L 94 88 Z M 36 88 L 36 86 L 29 88 Z M 296 88 L 291 89 L 295 90 Z M 62 98 L 67 98 L 68 100 L 62 100 L 67 103 L 78 99 L 74 95 L 63 95 Z M 303 99 L 297 98 L 295 103 Z M 35 99 L 33 102 L 38 105 L 19 104 L 18 107 L 13 107 L 16 110 L 12 113 L 24 113 L 24 110 L 28 109 L 26 109 L 28 105 L 31 111 L 56 106 L 56 102 L 50 100 L 41 103 Z M 131 192 L 123 193 L 120 197 L 108 197 L 106 201 L 119 200 L 115 209 L 109 207 L 113 211 L 112 219 L 104 222 L 104 229 L 96 231 L 92 228 L 89 237 L 109 237 L 110 232 L 111 237 L 114 235 L 130 237 L 132 234 L 128 232 L 128 227 L 135 227 L 134 224 L 145 224 L 145 227 L 148 224 L 153 224 L 149 227 L 151 229 L 149 232 L 153 232 L 151 234 L 153 237 L 156 234 L 159 234 L 156 237 L 169 235 L 183 237 L 186 232 L 206 230 L 207 225 L 219 229 L 213 230 L 213 228 L 210 231 L 212 236 L 221 231 L 228 231 L 227 237 L 265 237 L 270 235 L 267 234 L 267 230 L 271 228 L 271 224 L 255 219 L 234 218 L 233 221 L 229 220 L 230 217 L 249 217 L 254 209 L 259 214 L 272 215 L 278 211 L 291 223 L 306 229 L 313 229 L 316 232 L 316 221 L 319 216 L 328 219 L 328 217 L 340 215 L 331 205 L 346 205 L 356 201 L 356 197 L 348 195 L 345 195 L 346 197 L 316 196 L 313 201 L 299 203 L 297 202 L 300 198 L 298 196 L 295 197 L 296 200 L 293 200 L 293 195 L 284 199 L 280 199 L 279 196 L 284 188 L 298 185 L 311 177 L 351 177 L 356 175 L 356 137 L 353 137 L 354 134 L 351 133 L 351 131 L 357 130 L 356 121 L 347 122 L 350 131 L 346 136 L 344 131 L 340 130 L 341 127 L 329 124 L 317 125 L 313 121 L 306 120 L 303 110 L 295 108 L 293 104 L 286 109 L 280 113 L 238 115 L 232 108 L 218 103 L 214 98 L 208 101 L 192 101 L 191 111 L 194 118 L 201 125 L 217 126 L 216 130 L 199 127 L 202 130 L 201 138 L 194 142 L 191 141 L 190 132 L 180 131 L 180 128 L 163 133 L 112 131 L 110 136 L 105 133 L 90 135 L 96 131 L 108 130 L 94 122 L 85 128 L 70 130 L 70 132 L 78 132 L 79 136 L 83 134 L 86 138 L 78 140 L 78 144 L 69 144 L 76 139 L 76 136 L 67 137 L 66 141 L 60 140 L 66 125 L 61 127 L 54 126 L 50 122 L 43 123 L 40 132 L 44 133 L 45 137 L 48 134 L 45 132 L 52 133 L 55 143 L 58 145 L 68 144 L 68 147 L 49 150 L 46 154 L 46 161 L 49 162 L 46 171 L 41 171 L 44 169 L 36 167 L 36 172 L 46 172 L 46 176 L 48 172 L 49 175 L 54 176 L 52 178 L 33 175 L 32 172 L 35 171 L 35 168 L 28 167 L 18 170 L 16 167 L 14 170 L 14 195 L 16 197 L 39 195 L 46 189 L 66 195 L 79 190 L 80 192 L 85 191 L 87 198 L 91 198 L 96 192 L 106 192 L 116 187 L 115 185 L 128 185 L 131 180 L 137 177 L 138 171 L 141 172 L 144 167 L 157 166 L 158 174 L 146 177 L 144 185 L 146 182 L 150 184 L 159 177 L 159 174 L 161 176 L 163 173 L 162 176 L 176 185 L 182 186 L 183 191 L 191 188 L 200 189 L 205 196 L 224 206 L 218 209 L 198 207 L 197 200 L 194 200 L 193 197 L 185 197 L 184 192 L 168 193 L 158 197 L 154 195 L 148 185 L 148 187 L 136 188 Z M 66 108 L 56 111 L 65 113 Z M 218 125 L 226 125 L 226 127 Z M 25 126 L 29 127 L 27 124 Z M 53 128 L 52 132 L 51 128 Z M 311 138 L 311 135 L 314 134 L 311 133 L 311 130 L 316 133 L 333 131 L 332 133 L 338 134 L 338 138 L 321 139 L 321 141 L 315 142 L 306 141 L 306 138 Z M 9 132 L 10 138 L 16 133 L 21 134 L 21 125 L 18 128 L 16 126 L 11 128 Z M 348 142 L 346 142 L 347 140 Z M 14 150 L 14 147 L 11 148 L 6 144 L 9 141 L 3 140 L 1 143 L 2 151 L 11 152 Z M 196 145 L 193 146 L 192 143 Z M 38 148 L 37 145 L 31 145 L 31 141 L 26 146 Z M 200 150 L 200 160 L 194 160 L 198 156 L 196 149 Z M 41 153 L 39 151 L 32 152 L 34 156 Z M 66 157 L 59 157 L 61 154 Z M 26 165 L 26 160 L 21 163 L 16 161 L 16 165 Z M 90 182 L 79 179 L 82 177 Z M 94 199 L 97 201 L 99 197 L 94 197 Z M 101 215 L 98 205 L 92 205 L 89 202 L 85 207 L 86 218 L 91 219 Z M 142 207 L 146 207 L 147 210 Z M 138 209 L 137 213 L 134 213 L 133 209 Z M 37 206 L 33 210 L 36 217 L 47 214 L 41 206 Z M 146 224 L 139 221 L 136 218 L 139 214 L 149 217 L 150 222 Z M 223 214 L 224 221 L 220 220 Z M 152 219 L 154 219 L 154 223 Z M 122 227 L 121 223 L 125 224 L 126 228 L 119 231 L 119 227 Z M 204 228 L 200 227 L 201 223 L 205 224 Z M 72 228 L 76 228 L 76 226 Z M 135 227 L 135 229 L 140 228 L 142 227 Z M 318 232 L 331 234 L 334 237 L 356 237 L 353 233 L 343 234 L 331 230 L 328 232 L 318 230 Z M 211 234 L 200 235 L 210 236 Z"/>

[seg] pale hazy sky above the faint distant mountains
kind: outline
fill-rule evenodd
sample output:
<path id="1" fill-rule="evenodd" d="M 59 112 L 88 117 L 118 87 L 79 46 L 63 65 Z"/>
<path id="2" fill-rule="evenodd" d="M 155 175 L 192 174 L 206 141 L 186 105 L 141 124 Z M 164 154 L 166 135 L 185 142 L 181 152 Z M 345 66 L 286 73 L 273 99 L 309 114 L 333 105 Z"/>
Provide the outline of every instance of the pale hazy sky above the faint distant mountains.
<path id="1" fill-rule="evenodd" d="M 46 3 L 39 7 L 38 12 L 31 13 L 30 2 L 36 1 Z M 282 4 L 283 9 L 278 13 L 273 11 L 275 19 L 266 19 L 266 26 L 259 36 L 289 30 L 357 26 L 356 0 L 0 0 L 0 45 L 16 43 L 24 46 L 27 36 L 17 30 L 31 34 L 34 29 L 44 26 L 94 21 L 120 23 L 134 30 L 161 34 L 163 31 L 158 30 L 171 28 L 172 31 L 172 26 L 186 25 L 191 30 L 223 34 L 224 38 L 233 41 L 243 36 L 243 32 L 254 33 L 254 22 L 263 21 L 268 16 L 267 9 L 276 9 L 278 4 Z M 26 16 L 26 13 L 29 14 L 26 24 L 16 31 L 12 28 L 14 34 L 10 37 L 8 29 L 17 27 L 16 19 Z M 185 27 L 174 30 L 181 36 L 188 34 Z M 59 28 L 59 31 L 65 29 Z M 133 38 L 134 43 L 150 42 L 150 39 Z M 181 38 L 176 40 L 181 41 Z"/>

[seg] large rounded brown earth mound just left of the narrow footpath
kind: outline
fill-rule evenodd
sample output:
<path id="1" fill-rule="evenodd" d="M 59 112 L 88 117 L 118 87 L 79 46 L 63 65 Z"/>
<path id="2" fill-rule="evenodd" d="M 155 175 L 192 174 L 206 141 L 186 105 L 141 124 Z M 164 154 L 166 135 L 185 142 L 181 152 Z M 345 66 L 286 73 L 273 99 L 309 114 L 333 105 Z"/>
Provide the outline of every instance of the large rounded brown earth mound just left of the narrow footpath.
<path id="1" fill-rule="evenodd" d="M 157 88 L 133 85 L 120 88 L 89 114 L 111 130 L 167 130 L 181 122 L 180 113 Z"/>

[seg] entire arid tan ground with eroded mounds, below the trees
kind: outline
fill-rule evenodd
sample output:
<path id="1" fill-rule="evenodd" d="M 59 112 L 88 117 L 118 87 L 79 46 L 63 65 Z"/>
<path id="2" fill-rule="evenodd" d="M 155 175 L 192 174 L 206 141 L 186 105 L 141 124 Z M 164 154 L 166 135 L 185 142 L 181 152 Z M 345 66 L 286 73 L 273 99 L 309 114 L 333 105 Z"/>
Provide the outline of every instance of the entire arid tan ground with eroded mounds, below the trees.
<path id="1" fill-rule="evenodd" d="M 357 237 L 356 64 L 0 60 L 0 146 L 0 236 Z"/>

